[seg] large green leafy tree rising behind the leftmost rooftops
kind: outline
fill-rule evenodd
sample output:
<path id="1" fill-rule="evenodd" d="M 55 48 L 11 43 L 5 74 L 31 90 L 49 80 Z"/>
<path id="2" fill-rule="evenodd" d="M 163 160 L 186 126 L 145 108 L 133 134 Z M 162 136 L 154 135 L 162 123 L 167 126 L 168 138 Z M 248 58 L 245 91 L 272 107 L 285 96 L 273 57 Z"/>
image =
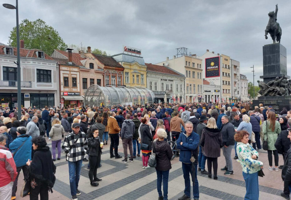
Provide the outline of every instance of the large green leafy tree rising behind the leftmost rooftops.
<path id="1" fill-rule="evenodd" d="M 11 45 L 17 46 L 16 27 L 10 32 Z M 67 45 L 59 33 L 41 19 L 29 21 L 24 19 L 19 24 L 19 39 L 24 40 L 24 48 L 40 49 L 51 55 L 54 49 L 65 50 Z"/>

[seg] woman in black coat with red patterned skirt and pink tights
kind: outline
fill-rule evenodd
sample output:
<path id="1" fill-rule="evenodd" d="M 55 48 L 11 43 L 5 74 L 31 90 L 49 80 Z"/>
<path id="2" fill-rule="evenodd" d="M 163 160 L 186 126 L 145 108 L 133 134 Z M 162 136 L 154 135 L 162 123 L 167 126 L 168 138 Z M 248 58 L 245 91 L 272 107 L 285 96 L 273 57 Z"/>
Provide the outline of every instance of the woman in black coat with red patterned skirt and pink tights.
<path id="1" fill-rule="evenodd" d="M 153 140 L 149 125 L 146 123 L 146 118 L 141 118 L 140 135 L 141 135 L 141 153 L 142 153 L 142 168 L 150 168 L 147 165 L 151 154 L 151 141 Z"/>

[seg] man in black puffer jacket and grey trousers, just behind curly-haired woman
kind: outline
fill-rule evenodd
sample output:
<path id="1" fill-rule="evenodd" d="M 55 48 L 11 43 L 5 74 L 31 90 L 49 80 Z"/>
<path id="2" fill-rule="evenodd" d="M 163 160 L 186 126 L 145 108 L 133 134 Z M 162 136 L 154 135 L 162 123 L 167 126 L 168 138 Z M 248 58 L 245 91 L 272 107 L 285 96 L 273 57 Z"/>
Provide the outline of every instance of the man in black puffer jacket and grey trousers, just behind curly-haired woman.
<path id="1" fill-rule="evenodd" d="M 222 136 L 222 152 L 225 157 L 225 167 L 220 169 L 221 171 L 226 171 L 224 175 L 232 175 L 232 159 L 231 159 L 231 151 L 234 146 L 234 127 L 232 123 L 228 121 L 227 115 L 223 115 L 221 118 L 222 128 L 221 128 L 221 136 Z"/>

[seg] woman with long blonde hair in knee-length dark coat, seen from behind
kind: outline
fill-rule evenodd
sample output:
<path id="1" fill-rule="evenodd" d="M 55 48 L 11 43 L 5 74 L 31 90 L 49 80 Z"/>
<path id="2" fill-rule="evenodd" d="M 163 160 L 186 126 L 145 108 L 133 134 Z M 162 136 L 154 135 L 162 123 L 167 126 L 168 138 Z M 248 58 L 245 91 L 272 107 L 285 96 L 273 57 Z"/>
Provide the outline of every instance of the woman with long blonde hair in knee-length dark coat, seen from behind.
<path id="1" fill-rule="evenodd" d="M 208 177 L 211 178 L 213 163 L 213 179 L 217 179 L 217 158 L 220 157 L 222 137 L 213 117 L 208 120 L 207 126 L 203 129 L 200 143 L 203 147 L 202 153 L 207 157 Z"/>

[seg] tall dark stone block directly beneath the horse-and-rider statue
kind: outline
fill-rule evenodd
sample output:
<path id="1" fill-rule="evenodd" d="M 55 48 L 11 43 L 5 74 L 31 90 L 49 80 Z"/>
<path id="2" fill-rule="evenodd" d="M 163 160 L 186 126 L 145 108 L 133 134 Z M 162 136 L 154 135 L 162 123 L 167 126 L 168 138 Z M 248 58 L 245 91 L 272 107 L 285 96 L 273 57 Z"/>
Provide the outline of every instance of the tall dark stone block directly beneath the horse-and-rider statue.
<path id="1" fill-rule="evenodd" d="M 279 78 L 285 73 L 287 76 L 287 51 L 280 43 L 267 44 L 263 46 L 263 76 L 265 83 Z"/>

